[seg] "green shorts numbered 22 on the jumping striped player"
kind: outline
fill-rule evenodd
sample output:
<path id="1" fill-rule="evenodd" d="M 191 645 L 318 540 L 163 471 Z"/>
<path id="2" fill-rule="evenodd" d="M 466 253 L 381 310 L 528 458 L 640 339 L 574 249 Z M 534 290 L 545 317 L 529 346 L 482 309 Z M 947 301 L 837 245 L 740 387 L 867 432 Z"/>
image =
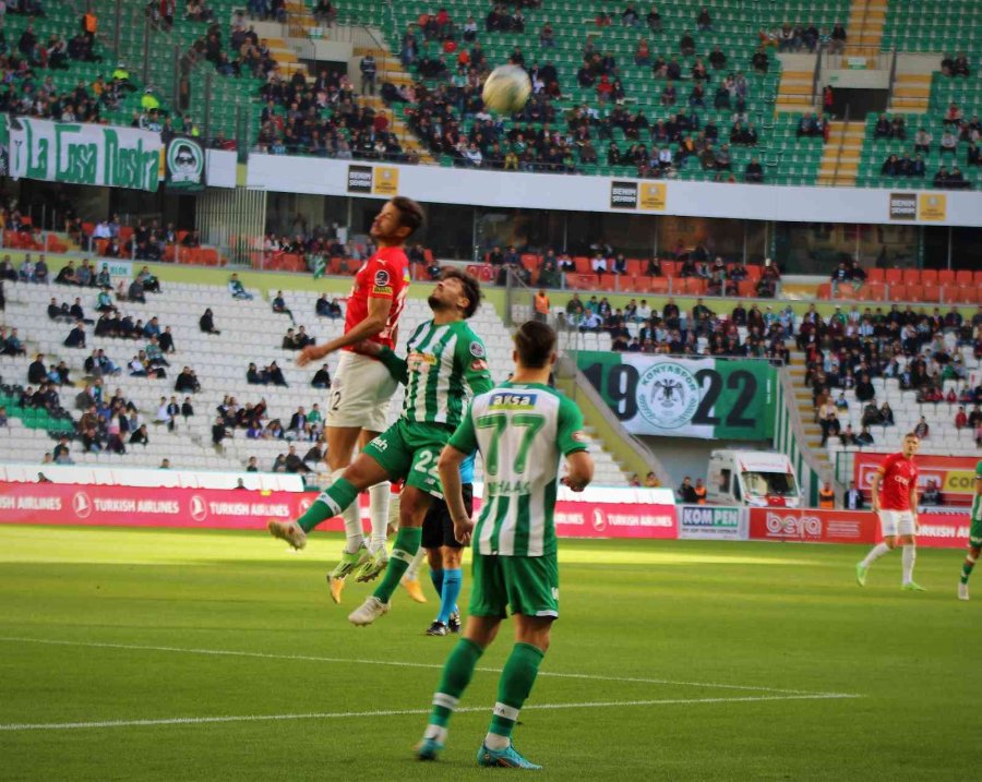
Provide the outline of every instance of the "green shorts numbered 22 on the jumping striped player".
<path id="1" fill-rule="evenodd" d="M 382 465 L 392 480 L 405 479 L 406 485 L 442 500 L 436 459 L 451 434 L 450 429 L 439 423 L 411 423 L 399 419 L 361 453 Z"/>

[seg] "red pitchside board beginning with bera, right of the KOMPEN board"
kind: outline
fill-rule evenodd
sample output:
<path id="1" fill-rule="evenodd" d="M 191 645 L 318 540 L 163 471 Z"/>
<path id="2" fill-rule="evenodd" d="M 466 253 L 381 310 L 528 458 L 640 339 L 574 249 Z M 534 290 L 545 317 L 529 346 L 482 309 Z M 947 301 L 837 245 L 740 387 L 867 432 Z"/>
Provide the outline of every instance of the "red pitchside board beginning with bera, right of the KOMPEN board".
<path id="1" fill-rule="evenodd" d="M 817 508 L 751 508 L 750 539 L 795 543 L 860 543 L 883 540 L 879 519 L 872 510 Z M 918 544 L 929 548 L 968 545 L 967 514 L 919 514 Z"/>

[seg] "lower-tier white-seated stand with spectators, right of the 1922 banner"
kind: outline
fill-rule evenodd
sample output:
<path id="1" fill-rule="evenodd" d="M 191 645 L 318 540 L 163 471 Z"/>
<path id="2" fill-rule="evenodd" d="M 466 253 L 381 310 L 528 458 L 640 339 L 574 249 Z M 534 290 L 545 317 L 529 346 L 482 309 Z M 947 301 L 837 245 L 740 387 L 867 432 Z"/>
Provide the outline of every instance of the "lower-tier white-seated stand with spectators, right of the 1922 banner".
<path id="1" fill-rule="evenodd" d="M 862 448 L 897 450 L 922 417 L 929 428 L 922 453 L 978 453 L 982 308 L 967 317 L 955 308 L 861 311 L 853 305 L 848 312 L 837 309 L 830 317 L 810 313 L 803 323 L 810 325 L 799 328 L 792 375 L 810 394 L 802 398 L 803 419 L 822 428 L 822 445 L 830 459 Z M 886 420 L 884 404 L 890 410 Z M 966 408 L 966 420 L 956 425 L 959 406 Z M 851 436 L 864 426 L 872 436 L 865 444 Z"/>

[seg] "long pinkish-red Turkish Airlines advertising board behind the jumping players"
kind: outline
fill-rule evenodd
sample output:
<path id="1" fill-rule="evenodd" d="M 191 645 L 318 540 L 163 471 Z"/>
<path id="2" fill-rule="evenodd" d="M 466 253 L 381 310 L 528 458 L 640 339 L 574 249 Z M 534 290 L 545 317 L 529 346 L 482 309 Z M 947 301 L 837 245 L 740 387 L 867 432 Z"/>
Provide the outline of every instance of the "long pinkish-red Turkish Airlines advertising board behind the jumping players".
<path id="1" fill-rule="evenodd" d="M 648 495 L 643 490 L 594 492 L 595 495 L 584 500 L 556 502 L 556 534 L 561 538 L 678 537 L 675 508 L 670 502 L 645 502 Z M 615 497 L 619 492 L 630 502 L 594 500 L 594 496 Z M 315 498 L 313 492 L 0 483 L 0 522 L 265 529 L 271 518 L 301 516 Z M 362 519 L 367 520 L 366 494 L 360 496 L 360 505 Z M 475 500 L 475 506 L 479 505 Z M 318 529 L 339 532 L 344 524 L 336 517 Z"/>

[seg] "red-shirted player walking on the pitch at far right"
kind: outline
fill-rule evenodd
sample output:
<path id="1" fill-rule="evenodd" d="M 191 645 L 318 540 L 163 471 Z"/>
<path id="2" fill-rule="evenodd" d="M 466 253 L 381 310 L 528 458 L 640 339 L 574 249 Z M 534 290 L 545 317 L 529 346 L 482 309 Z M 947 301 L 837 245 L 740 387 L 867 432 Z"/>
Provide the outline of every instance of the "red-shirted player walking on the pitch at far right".
<path id="1" fill-rule="evenodd" d="M 873 477 L 873 513 L 879 516 L 883 543 L 877 543 L 866 558 L 855 566 L 855 580 L 866 586 L 870 566 L 899 542 L 903 546 L 901 588 L 923 592 L 913 580 L 917 558 L 918 533 L 918 466 L 913 457 L 921 446 L 921 438 L 911 432 L 903 437 L 899 454 L 890 454 L 883 460 Z"/>

